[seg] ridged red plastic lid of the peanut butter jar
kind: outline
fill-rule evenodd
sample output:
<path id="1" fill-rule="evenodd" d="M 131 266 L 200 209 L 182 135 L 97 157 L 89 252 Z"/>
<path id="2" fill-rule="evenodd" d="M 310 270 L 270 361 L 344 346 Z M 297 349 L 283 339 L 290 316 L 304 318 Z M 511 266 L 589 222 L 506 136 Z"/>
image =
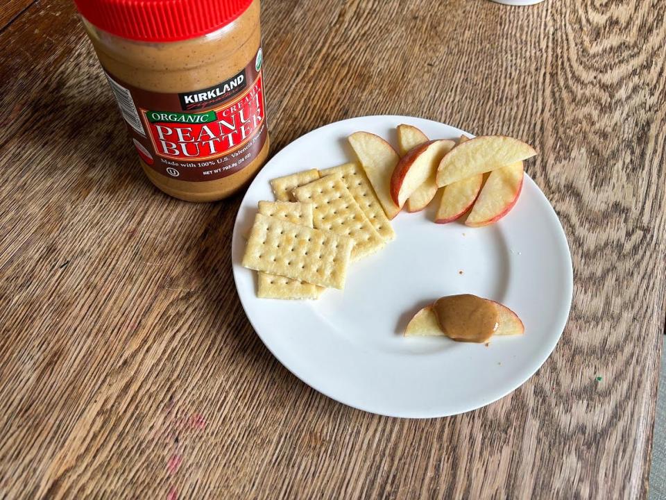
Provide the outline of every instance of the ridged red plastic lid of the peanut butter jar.
<path id="1" fill-rule="evenodd" d="M 74 0 L 90 24 L 144 42 L 175 42 L 229 24 L 253 0 Z"/>

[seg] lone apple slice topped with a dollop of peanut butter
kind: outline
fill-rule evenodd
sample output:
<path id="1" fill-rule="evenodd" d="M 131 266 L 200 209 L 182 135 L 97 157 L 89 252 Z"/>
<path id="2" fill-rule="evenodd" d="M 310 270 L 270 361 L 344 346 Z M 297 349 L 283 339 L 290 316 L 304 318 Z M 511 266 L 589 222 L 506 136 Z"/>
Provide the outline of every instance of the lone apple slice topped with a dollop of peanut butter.
<path id="1" fill-rule="evenodd" d="M 499 302 L 472 294 L 441 297 L 422 308 L 407 325 L 406 337 L 446 336 L 484 344 L 493 335 L 522 335 L 518 315 Z"/>

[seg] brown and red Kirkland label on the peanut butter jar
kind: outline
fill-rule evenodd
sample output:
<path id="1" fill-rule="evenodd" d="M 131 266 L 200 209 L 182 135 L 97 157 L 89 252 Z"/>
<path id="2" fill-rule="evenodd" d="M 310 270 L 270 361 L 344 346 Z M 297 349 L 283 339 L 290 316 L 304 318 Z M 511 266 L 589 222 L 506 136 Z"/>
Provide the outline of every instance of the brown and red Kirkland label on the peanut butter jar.
<path id="1" fill-rule="evenodd" d="M 211 87 L 148 92 L 106 71 L 139 157 L 180 181 L 214 181 L 238 172 L 266 144 L 262 49 L 238 74 Z"/>

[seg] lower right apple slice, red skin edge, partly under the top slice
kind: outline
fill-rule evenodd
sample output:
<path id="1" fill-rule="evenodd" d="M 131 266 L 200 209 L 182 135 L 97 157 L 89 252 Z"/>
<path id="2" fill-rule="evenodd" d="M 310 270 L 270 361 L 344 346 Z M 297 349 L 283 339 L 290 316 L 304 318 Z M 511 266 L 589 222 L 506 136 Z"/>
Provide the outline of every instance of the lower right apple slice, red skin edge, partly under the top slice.
<path id="1" fill-rule="evenodd" d="M 518 201 L 523 178 L 522 161 L 490 172 L 465 224 L 481 227 L 502 219 Z"/>

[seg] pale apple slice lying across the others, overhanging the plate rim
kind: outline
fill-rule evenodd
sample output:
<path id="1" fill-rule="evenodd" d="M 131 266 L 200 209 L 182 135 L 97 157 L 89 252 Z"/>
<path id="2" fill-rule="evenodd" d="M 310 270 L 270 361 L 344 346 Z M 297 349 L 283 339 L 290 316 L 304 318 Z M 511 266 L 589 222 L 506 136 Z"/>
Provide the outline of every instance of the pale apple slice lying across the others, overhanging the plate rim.
<path id="1" fill-rule="evenodd" d="M 484 172 L 492 172 L 536 155 L 529 144 L 504 137 L 486 135 L 454 147 L 437 169 L 437 185 L 442 186 Z"/>

